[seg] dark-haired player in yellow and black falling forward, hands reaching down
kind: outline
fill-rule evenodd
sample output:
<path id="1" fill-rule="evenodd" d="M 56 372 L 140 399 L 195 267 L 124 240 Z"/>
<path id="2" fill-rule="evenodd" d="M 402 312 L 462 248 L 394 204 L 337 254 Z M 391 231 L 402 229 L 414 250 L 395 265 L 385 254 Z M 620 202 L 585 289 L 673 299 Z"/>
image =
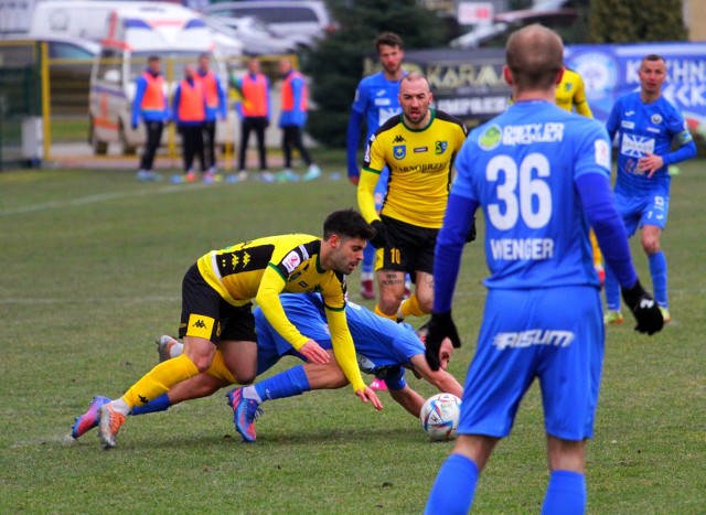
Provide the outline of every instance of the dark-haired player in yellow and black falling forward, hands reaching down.
<path id="1" fill-rule="evenodd" d="M 255 299 L 275 330 L 310 363 L 327 364 L 329 354 L 287 319 L 279 293 L 320 292 L 336 361 L 355 395 L 382 409 L 365 386 L 345 318 L 345 276 L 363 260 L 374 235 L 353 210 L 336 211 L 323 224 L 323 239 L 304 234 L 271 236 L 240 243 L 202 256 L 184 276 L 179 336 L 184 352 L 160 363 L 120 398 L 100 408 L 98 432 L 104 448 L 115 447 L 125 416 L 132 407 L 169 391 L 175 384 L 207 369 L 216 346 L 222 363 L 240 384 L 257 374 L 257 339 L 250 311 Z M 227 373 L 225 374 L 227 375 Z"/>

